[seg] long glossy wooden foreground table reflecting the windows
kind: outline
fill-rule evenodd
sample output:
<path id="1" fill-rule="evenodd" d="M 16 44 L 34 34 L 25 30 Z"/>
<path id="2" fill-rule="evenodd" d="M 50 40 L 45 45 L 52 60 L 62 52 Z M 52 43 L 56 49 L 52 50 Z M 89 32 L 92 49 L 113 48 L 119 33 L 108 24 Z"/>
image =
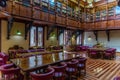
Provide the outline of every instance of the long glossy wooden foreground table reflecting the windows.
<path id="1" fill-rule="evenodd" d="M 43 67 L 47 67 L 48 65 L 52 65 L 61 61 L 70 60 L 73 58 L 79 57 L 76 54 L 68 54 L 68 53 L 46 53 L 40 54 L 36 56 L 31 56 L 27 58 L 17 58 L 11 59 L 11 61 L 23 71 L 25 79 L 29 79 L 29 73 L 31 71 L 38 70 Z"/>

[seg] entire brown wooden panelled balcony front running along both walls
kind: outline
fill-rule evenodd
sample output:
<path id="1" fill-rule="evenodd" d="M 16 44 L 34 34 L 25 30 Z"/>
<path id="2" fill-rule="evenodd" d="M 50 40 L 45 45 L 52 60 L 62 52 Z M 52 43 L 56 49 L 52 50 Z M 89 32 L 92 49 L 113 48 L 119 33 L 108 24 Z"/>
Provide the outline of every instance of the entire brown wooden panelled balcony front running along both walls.
<path id="1" fill-rule="evenodd" d="M 34 5 L 24 5 L 21 2 L 7 1 L 7 7 L 4 11 L 11 14 L 13 17 L 20 17 L 21 19 L 29 19 L 38 22 L 47 22 L 50 24 L 57 24 L 61 26 L 68 26 L 79 29 L 120 29 L 120 15 L 108 16 L 106 20 L 80 22 L 76 16 L 69 16 L 68 14 L 51 13 L 49 10 L 44 11 L 41 7 Z M 79 16 L 80 17 L 80 16 Z"/>

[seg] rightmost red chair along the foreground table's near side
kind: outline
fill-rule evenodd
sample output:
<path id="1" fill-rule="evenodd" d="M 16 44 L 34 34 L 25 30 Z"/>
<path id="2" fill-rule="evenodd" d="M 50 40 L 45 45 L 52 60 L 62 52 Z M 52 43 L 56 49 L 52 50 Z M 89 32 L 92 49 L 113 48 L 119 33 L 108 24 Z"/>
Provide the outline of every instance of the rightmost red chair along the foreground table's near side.
<path id="1" fill-rule="evenodd" d="M 86 58 L 79 58 L 79 63 L 78 63 L 78 71 L 79 71 L 79 76 L 82 73 L 82 70 L 84 70 L 84 74 L 86 74 Z"/>

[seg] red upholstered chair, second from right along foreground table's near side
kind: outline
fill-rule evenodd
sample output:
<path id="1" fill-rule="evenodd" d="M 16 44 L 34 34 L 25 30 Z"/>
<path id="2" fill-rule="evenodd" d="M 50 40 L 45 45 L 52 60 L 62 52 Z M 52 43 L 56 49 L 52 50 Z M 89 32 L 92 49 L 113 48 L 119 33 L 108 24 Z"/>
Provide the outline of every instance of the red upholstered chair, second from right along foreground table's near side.
<path id="1" fill-rule="evenodd" d="M 78 73 L 77 64 L 78 64 L 78 60 L 76 59 L 67 62 L 66 73 L 68 75 L 68 80 L 72 80 L 73 78 L 77 79 L 77 73 Z"/>

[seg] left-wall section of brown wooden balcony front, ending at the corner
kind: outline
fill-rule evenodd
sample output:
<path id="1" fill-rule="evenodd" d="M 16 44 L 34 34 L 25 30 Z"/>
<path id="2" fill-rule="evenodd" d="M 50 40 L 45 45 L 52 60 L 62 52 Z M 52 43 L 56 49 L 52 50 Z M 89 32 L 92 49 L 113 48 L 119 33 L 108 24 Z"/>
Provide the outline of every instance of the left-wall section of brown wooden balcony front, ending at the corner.
<path id="1" fill-rule="evenodd" d="M 11 14 L 13 17 L 21 17 L 21 19 L 38 20 L 62 26 L 80 27 L 78 21 L 74 18 L 69 19 L 65 14 L 52 14 L 50 11 L 44 11 L 40 7 L 32 5 L 24 5 L 21 2 L 8 1 L 4 11 Z"/>

